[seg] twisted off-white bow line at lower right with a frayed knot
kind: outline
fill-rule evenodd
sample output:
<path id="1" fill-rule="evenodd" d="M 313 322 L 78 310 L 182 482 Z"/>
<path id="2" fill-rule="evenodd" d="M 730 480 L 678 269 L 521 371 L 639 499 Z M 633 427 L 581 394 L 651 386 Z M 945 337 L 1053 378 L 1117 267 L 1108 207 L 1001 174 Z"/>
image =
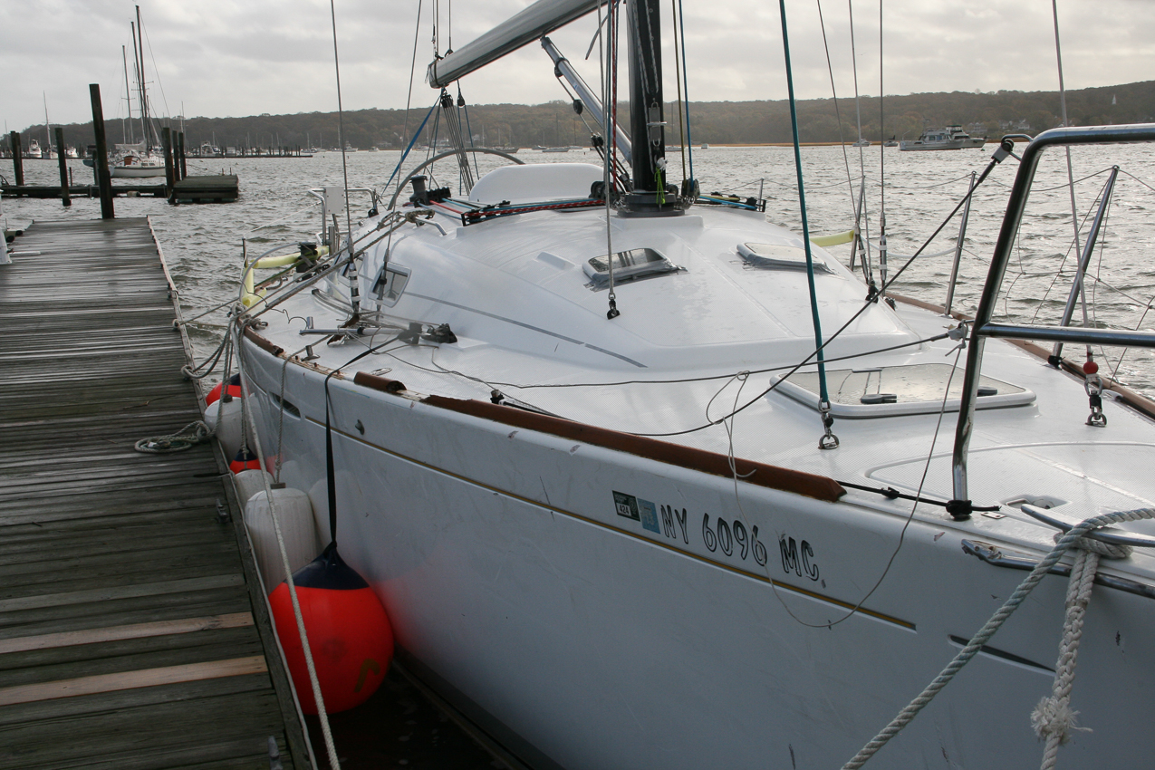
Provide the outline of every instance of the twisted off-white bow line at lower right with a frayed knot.
<path id="1" fill-rule="evenodd" d="M 947 665 L 942 672 L 934 678 L 934 680 L 926 686 L 922 693 L 918 694 L 915 700 L 912 700 L 907 707 L 899 712 L 891 724 L 882 728 L 878 735 L 871 739 L 862 750 L 858 752 L 849 762 L 842 765 L 842 770 L 856 770 L 863 767 L 869 758 L 874 756 L 874 754 L 886 746 L 886 743 L 902 732 L 911 719 L 914 719 L 919 711 L 923 710 L 934 696 L 938 695 L 939 690 L 946 687 L 954 675 L 957 674 L 963 666 L 966 666 L 975 655 L 986 644 L 988 641 L 994 633 L 1003 626 L 1004 622 L 1019 608 L 1019 605 L 1023 603 L 1031 590 L 1050 573 L 1051 567 L 1053 567 L 1059 559 L 1071 548 L 1079 548 L 1080 553 L 1090 553 L 1095 551 L 1093 555 L 1095 559 L 1093 562 L 1088 562 L 1087 558 L 1082 558 L 1083 562 L 1081 568 L 1078 566 L 1080 559 L 1076 559 L 1076 567 L 1071 570 L 1071 585 L 1073 586 L 1067 593 L 1067 621 L 1064 625 L 1063 644 L 1060 645 L 1059 652 L 1059 670 L 1056 672 L 1056 685 L 1055 690 L 1050 698 L 1043 698 L 1043 701 L 1035 709 L 1035 713 L 1031 716 L 1031 720 L 1035 723 L 1035 728 L 1040 734 L 1045 734 L 1048 737 L 1046 741 L 1046 753 L 1043 757 L 1043 770 L 1055 767 L 1055 752 L 1058 746 L 1070 740 L 1071 730 L 1074 728 L 1074 712 L 1071 711 L 1068 701 L 1071 695 L 1071 685 L 1074 680 L 1074 660 L 1075 652 L 1079 649 L 1079 637 L 1082 634 L 1082 616 L 1087 610 L 1087 599 L 1090 598 L 1090 585 L 1095 580 L 1094 568 L 1098 563 L 1098 555 L 1111 555 L 1111 558 L 1124 558 L 1130 550 L 1120 550 L 1118 546 L 1108 546 L 1103 548 L 1104 544 L 1095 540 L 1086 539 L 1083 536 L 1093 530 L 1097 530 L 1110 524 L 1120 524 L 1123 522 L 1134 522 L 1142 518 L 1155 518 L 1155 508 L 1139 508 L 1135 510 L 1124 510 L 1113 514 L 1103 514 L 1101 516 L 1093 516 L 1080 522 L 1078 525 L 1071 529 L 1061 537 L 1058 538 L 1055 548 L 1051 550 L 1035 567 L 1030 570 L 1030 574 L 1019 584 L 1011 598 L 999 607 L 999 610 L 991 615 L 991 619 L 986 621 L 977 634 L 967 643 L 959 655 Z M 1122 554 L 1122 555 L 1115 555 Z M 1088 563 L 1090 569 L 1088 569 Z M 1076 571 L 1078 570 L 1078 571 Z M 1086 588 L 1083 584 L 1086 583 Z M 1071 596 L 1075 596 L 1075 601 L 1071 600 Z M 1081 605 L 1080 605 L 1081 603 Z M 1055 743 L 1052 748 L 1052 742 Z M 1048 764 L 1048 757 L 1051 757 L 1050 764 Z"/>

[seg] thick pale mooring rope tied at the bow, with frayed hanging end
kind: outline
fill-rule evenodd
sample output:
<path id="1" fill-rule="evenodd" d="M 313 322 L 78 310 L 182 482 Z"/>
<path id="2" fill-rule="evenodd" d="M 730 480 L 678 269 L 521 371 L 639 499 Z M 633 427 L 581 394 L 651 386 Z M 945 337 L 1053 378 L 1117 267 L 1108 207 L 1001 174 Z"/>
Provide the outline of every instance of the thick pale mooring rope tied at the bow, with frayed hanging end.
<path id="1" fill-rule="evenodd" d="M 856 754 L 849 762 L 842 765 L 842 770 L 856 770 L 857 768 L 863 767 L 866 763 L 866 761 L 870 760 L 872 756 L 874 756 L 874 754 L 880 748 L 886 746 L 886 743 L 892 738 L 902 732 L 902 728 L 906 727 L 908 724 L 910 724 L 910 720 L 914 719 L 916 716 L 918 716 L 918 712 L 922 711 L 932 700 L 934 700 L 934 696 L 938 695 L 938 693 L 944 687 L 946 687 L 952 679 L 954 679 L 954 675 L 957 674 L 959 671 L 961 671 L 962 667 L 966 666 L 970 661 L 970 659 L 974 658 L 978 653 L 978 651 L 983 649 L 983 645 L 986 644 L 986 642 L 990 641 L 992 636 L 994 636 L 994 633 L 1003 626 L 1004 622 L 1006 622 L 1006 620 L 1012 615 L 1012 613 L 1014 613 L 1014 611 L 1019 608 L 1019 605 L 1021 605 L 1023 600 L 1027 598 L 1027 596 L 1030 595 L 1031 590 L 1034 590 L 1034 588 L 1038 585 L 1040 581 L 1042 581 L 1051 571 L 1051 567 L 1053 567 L 1059 561 L 1063 554 L 1065 554 L 1072 547 L 1100 548 L 1101 546 L 1104 545 L 1102 543 L 1086 539 L 1085 538 L 1086 534 L 1088 534 L 1093 530 L 1097 530 L 1100 528 L 1108 526 L 1110 524 L 1134 522 L 1142 518 L 1155 518 L 1155 508 L 1139 508 L 1135 510 L 1124 510 L 1113 514 L 1102 514 L 1100 516 L 1093 516 L 1090 518 L 1080 522 L 1068 532 L 1063 534 L 1058 539 L 1056 546 L 1050 551 L 1050 553 L 1043 556 L 1043 559 L 1030 571 L 1027 578 L 1019 584 L 1019 588 L 1016 588 L 1014 593 L 1011 595 L 1011 598 L 1007 599 L 1006 603 L 1001 607 L 999 607 L 999 610 L 993 615 L 991 615 L 991 619 L 986 621 L 986 625 L 983 626 L 981 629 L 978 629 L 978 633 L 975 634 L 974 637 L 971 637 L 970 642 L 967 643 L 967 646 L 964 646 L 962 650 L 959 651 L 959 655 L 954 657 L 954 659 L 947 665 L 947 667 L 944 668 L 942 672 L 939 673 L 939 675 L 936 676 L 934 680 L 930 685 L 927 685 L 926 688 L 922 693 L 919 693 L 917 697 L 915 697 L 915 700 L 912 700 L 909 704 L 907 704 L 907 707 L 902 711 L 900 711 L 899 715 L 893 720 L 891 720 L 891 724 L 884 727 L 878 735 L 871 739 L 870 742 L 867 742 L 862 748 L 862 750 L 858 752 L 858 754 Z M 1086 573 L 1086 566 L 1083 568 L 1083 573 Z M 1071 580 L 1073 582 L 1081 582 L 1082 575 L 1080 574 L 1076 577 L 1075 569 L 1072 568 Z M 1094 581 L 1094 573 L 1090 574 L 1090 580 Z M 1089 590 L 1090 589 L 1088 588 L 1087 589 L 1088 595 Z M 1076 590 L 1075 593 L 1076 596 L 1081 596 L 1080 590 Z M 1086 611 L 1086 603 L 1082 605 L 1082 611 L 1083 612 Z M 1074 678 L 1074 651 L 1078 650 L 1078 636 L 1081 635 L 1081 629 L 1082 629 L 1081 614 L 1079 616 L 1078 623 L 1071 620 L 1068 621 L 1067 626 L 1071 627 L 1070 640 L 1067 629 L 1065 627 L 1064 644 L 1060 646 L 1061 652 L 1060 652 L 1059 664 L 1060 668 L 1063 668 L 1064 656 L 1067 656 L 1070 661 L 1070 674 L 1060 674 L 1060 672 L 1056 672 L 1056 682 L 1057 682 L 1056 691 L 1059 693 L 1060 696 L 1064 688 L 1066 689 L 1066 694 L 1070 695 L 1068 680 L 1073 680 Z M 1067 683 L 1059 682 L 1060 676 L 1064 679 L 1064 682 Z M 1043 702 L 1040 703 L 1038 708 L 1036 708 L 1036 713 L 1041 713 L 1041 716 L 1037 718 L 1033 717 L 1033 720 L 1036 723 L 1036 730 L 1040 730 L 1037 725 L 1041 724 L 1043 725 L 1042 730 L 1046 731 L 1048 746 L 1050 746 L 1051 741 L 1050 735 L 1052 733 L 1056 733 L 1058 735 L 1057 740 L 1059 743 L 1065 742 L 1065 740 L 1070 740 L 1070 730 L 1073 726 L 1072 723 L 1065 720 L 1064 717 L 1065 716 L 1073 717 L 1074 715 L 1070 712 L 1070 708 L 1067 708 L 1067 713 L 1061 713 L 1061 700 L 1052 701 L 1052 698 L 1055 697 L 1056 696 L 1052 695 L 1051 698 L 1043 698 Z M 1064 737 L 1066 737 L 1066 739 Z M 1044 755 L 1043 768 L 1045 770 L 1049 767 L 1053 767 L 1053 763 L 1051 765 L 1048 765 Z"/>

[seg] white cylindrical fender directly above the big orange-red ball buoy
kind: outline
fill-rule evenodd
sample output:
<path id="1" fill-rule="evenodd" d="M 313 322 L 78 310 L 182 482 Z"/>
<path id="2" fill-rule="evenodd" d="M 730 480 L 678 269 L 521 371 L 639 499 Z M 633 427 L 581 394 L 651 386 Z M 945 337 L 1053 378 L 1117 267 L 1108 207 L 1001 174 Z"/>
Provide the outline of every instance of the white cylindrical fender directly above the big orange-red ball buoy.
<path id="1" fill-rule="evenodd" d="M 307 494 L 288 488 L 273 489 L 273 504 L 285 541 L 285 553 L 289 554 L 289 567 L 297 571 L 321 552 L 313 524 L 313 506 L 308 502 Z M 253 544 L 256 565 L 261 569 L 264 592 L 269 595 L 284 581 L 285 570 L 277 547 L 277 533 L 273 529 L 269 495 L 263 489 L 245 503 L 245 528 L 248 530 L 248 540 Z"/>

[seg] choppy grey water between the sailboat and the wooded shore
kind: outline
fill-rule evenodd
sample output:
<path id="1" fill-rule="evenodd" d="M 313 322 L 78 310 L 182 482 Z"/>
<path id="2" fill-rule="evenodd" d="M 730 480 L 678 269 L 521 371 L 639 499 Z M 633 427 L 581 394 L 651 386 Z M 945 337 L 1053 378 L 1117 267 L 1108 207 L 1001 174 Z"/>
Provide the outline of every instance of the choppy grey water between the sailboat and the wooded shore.
<path id="1" fill-rule="evenodd" d="M 973 171 L 982 172 L 994 150 L 942 152 L 900 152 L 895 148 L 872 147 L 862 150 L 839 147 L 803 148 L 803 172 L 812 236 L 849 230 L 854 220 L 854 200 L 858 180 L 866 179 L 866 209 L 872 240 L 878 239 L 878 212 L 885 195 L 888 264 L 891 275 L 931 236 L 966 194 Z M 885 167 L 880 156 L 885 154 Z M 416 157 L 416 152 L 413 157 Z M 681 156 L 670 148 L 671 178 L 681 177 Z M 381 189 L 393 172 L 398 151 L 355 152 L 348 156 L 350 188 Z M 597 163 L 590 151 L 541 154 L 522 150 L 519 158 L 528 163 Z M 424 157 L 419 158 L 424 159 Z M 407 164 L 408 169 L 417 160 Z M 482 156 L 484 173 L 504 159 Z M 1120 166 L 1112 205 L 1100 237 L 1101 249 L 1091 260 L 1088 276 L 1088 319 L 1090 323 L 1115 328 L 1155 328 L 1150 302 L 1155 297 L 1155 270 L 1148 259 L 1155 232 L 1150 229 L 1155 212 L 1155 157 L 1143 145 L 1115 148 L 1078 148 L 1072 151 L 1073 175 L 1081 239 L 1094 217 L 1096 199 L 1111 165 Z M 453 159 L 435 166 L 431 186 L 456 186 L 457 172 Z M 796 192 L 793 150 L 791 148 L 742 147 L 696 149 L 693 152 L 694 174 L 706 193 L 732 192 L 758 195 L 762 189 L 769 199 L 767 217 L 777 224 L 802 231 Z M 117 215 L 149 216 L 164 249 L 165 259 L 178 289 L 186 317 L 236 297 L 240 275 L 243 239 L 249 253 L 261 252 L 282 242 L 311 240 L 320 225 L 320 208 L 307 194 L 310 187 L 342 184 L 342 158 L 325 152 L 312 158 L 217 158 L 192 159 L 191 174 L 236 173 L 240 177 L 240 199 L 229 204 L 169 205 L 162 199 L 117 199 Z M 855 180 L 854 189 L 848 185 Z M 76 181 L 91 179 L 91 170 L 70 162 Z M 986 267 L 1001 224 L 1003 212 L 1018 163 L 1013 158 L 997 167 L 975 194 L 960 266 L 954 308 L 973 313 L 986 276 Z M 426 172 L 427 173 L 427 172 Z M 28 184 L 59 184 L 55 162 L 24 163 Z M 1072 249 L 1074 231 L 1066 187 L 1066 158 L 1061 150 L 1049 152 L 1040 166 L 1036 184 L 1027 207 L 1014 260 L 1004 284 L 999 312 L 1016 321 L 1053 323 L 1066 301 L 1075 262 Z M 392 194 L 392 190 L 390 190 Z M 352 211 L 368 209 L 367 195 L 352 195 Z M 32 219 L 92 218 L 99 216 L 96 200 L 74 200 L 70 209 L 59 201 L 8 199 L 3 211 L 9 227 L 27 225 Z M 342 223 L 343 224 L 343 223 Z M 957 218 L 947 224 L 939 238 L 895 283 L 894 290 L 927 301 L 944 304 L 951 275 L 957 234 Z M 849 260 L 849 246 L 834 247 L 833 253 Z M 878 270 L 877 252 L 874 270 Z M 1059 268 L 1064 271 L 1059 275 Z M 1076 321 L 1081 312 L 1076 309 Z M 199 356 L 216 346 L 224 331 L 221 313 L 191 324 L 191 336 Z M 1106 373 L 1138 390 L 1155 396 L 1155 353 L 1152 351 L 1096 350 L 1096 359 Z M 1081 358 L 1082 350 L 1068 346 L 1071 358 Z"/>

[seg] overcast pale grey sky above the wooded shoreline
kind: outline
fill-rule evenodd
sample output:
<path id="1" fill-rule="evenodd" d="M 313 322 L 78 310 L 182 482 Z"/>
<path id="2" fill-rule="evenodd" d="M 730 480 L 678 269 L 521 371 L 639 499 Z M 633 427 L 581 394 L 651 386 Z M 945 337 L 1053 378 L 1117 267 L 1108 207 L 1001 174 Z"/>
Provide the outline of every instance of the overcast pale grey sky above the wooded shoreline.
<path id="1" fill-rule="evenodd" d="M 685 7 L 692 100 L 781 99 L 787 95 L 782 25 L 774 0 L 679 0 Z M 418 6 L 420 27 L 416 27 Z M 404 107 L 417 36 L 413 106 L 435 94 L 424 83 L 452 35 L 461 47 L 529 0 L 336 0 L 342 98 L 346 110 Z M 663 37 L 670 36 L 670 2 Z M 176 115 L 240 117 L 336 110 L 328 0 L 142 0 L 149 96 Z M 822 0 L 840 97 L 854 95 L 849 12 L 858 53 L 858 84 L 879 92 L 879 1 Z M 452 8 L 452 24 L 450 24 Z M 799 98 L 830 96 L 819 2 L 787 0 L 795 87 Z M 596 54 L 581 61 L 595 16 L 552 37 L 587 80 Z M 0 119 L 7 130 L 44 121 L 91 119 L 88 84 L 99 82 L 104 114 L 125 114 L 121 46 L 128 48 L 129 0 L 0 0 Z M 1057 90 L 1050 0 L 886 0 L 882 6 L 882 90 Z M 1059 0 L 1063 65 L 1068 89 L 1155 80 L 1155 0 Z M 672 62 L 665 74 L 672 85 Z M 549 58 L 530 45 L 467 76 L 470 104 L 539 104 L 566 98 Z M 623 90 L 625 82 L 623 82 Z M 666 97 L 673 98 L 671 87 Z"/>

